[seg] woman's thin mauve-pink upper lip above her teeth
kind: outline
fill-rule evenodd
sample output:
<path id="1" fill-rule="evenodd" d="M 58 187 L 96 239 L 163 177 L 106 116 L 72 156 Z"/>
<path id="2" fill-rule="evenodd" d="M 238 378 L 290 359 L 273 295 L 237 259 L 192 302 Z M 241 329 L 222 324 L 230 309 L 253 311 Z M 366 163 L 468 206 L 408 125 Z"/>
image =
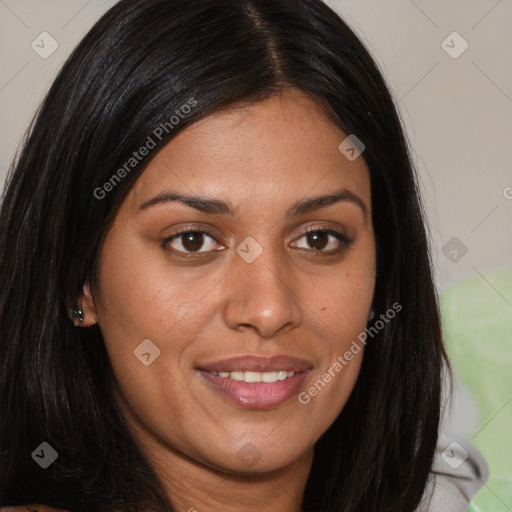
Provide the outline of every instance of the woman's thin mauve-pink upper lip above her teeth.
<path id="1" fill-rule="evenodd" d="M 274 357 L 259 355 L 235 356 L 213 363 L 198 365 L 198 369 L 207 372 L 275 372 L 286 370 L 288 372 L 302 372 L 312 368 L 312 364 L 305 359 L 278 355 Z"/>

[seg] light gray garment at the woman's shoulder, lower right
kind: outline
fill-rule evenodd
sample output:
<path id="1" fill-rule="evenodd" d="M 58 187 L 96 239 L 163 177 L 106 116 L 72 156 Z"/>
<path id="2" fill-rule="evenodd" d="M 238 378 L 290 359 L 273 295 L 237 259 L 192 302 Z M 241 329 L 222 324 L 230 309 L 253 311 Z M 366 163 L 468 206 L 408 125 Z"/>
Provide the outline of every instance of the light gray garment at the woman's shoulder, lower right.
<path id="1" fill-rule="evenodd" d="M 432 478 L 417 512 L 467 512 L 469 501 L 489 478 L 480 452 L 458 435 L 442 432 Z"/>

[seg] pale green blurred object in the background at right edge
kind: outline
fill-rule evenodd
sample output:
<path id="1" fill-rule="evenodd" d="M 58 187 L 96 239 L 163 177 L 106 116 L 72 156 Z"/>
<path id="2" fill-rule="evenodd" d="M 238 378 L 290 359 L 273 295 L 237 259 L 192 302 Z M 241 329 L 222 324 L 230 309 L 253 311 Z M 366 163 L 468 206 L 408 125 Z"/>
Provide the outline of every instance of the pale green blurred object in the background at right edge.
<path id="1" fill-rule="evenodd" d="M 455 377 L 478 409 L 477 424 L 463 434 L 490 470 L 469 512 L 512 511 L 512 270 L 450 286 L 440 307 Z"/>

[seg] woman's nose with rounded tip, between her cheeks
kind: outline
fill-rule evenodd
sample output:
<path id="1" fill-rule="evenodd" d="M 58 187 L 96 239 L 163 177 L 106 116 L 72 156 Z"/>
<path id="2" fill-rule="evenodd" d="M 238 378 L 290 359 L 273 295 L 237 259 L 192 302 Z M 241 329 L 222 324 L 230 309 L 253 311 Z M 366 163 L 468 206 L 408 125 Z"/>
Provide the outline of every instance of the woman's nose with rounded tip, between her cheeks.
<path id="1" fill-rule="evenodd" d="M 302 303 L 293 264 L 270 249 L 252 263 L 236 258 L 236 268 L 226 276 L 226 325 L 239 332 L 255 330 L 261 338 L 300 325 Z"/>

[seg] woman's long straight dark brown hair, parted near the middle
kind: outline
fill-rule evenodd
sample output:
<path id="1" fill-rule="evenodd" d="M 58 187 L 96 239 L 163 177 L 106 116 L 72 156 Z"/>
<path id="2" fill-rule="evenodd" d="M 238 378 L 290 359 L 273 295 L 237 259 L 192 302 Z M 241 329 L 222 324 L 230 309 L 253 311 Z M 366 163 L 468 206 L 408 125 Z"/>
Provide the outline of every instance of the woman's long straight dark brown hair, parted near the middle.
<path id="1" fill-rule="evenodd" d="M 364 142 L 377 242 L 373 307 L 377 317 L 403 307 L 368 343 L 348 403 L 316 443 L 303 509 L 418 506 L 445 359 L 424 214 L 386 83 L 320 0 L 121 0 L 67 60 L 0 211 L 0 505 L 172 510 L 115 405 L 99 327 L 73 327 L 67 308 L 95 282 L 105 234 L 158 149 L 204 116 L 287 87 Z M 170 127 L 191 98 L 194 108 Z M 166 122 L 151 154 L 98 198 Z M 31 457 L 42 442 L 58 452 L 48 469 Z"/>

